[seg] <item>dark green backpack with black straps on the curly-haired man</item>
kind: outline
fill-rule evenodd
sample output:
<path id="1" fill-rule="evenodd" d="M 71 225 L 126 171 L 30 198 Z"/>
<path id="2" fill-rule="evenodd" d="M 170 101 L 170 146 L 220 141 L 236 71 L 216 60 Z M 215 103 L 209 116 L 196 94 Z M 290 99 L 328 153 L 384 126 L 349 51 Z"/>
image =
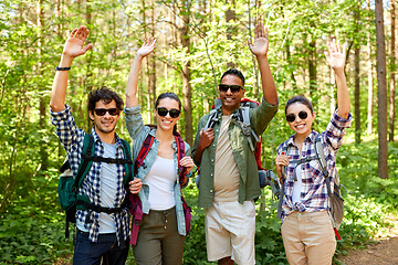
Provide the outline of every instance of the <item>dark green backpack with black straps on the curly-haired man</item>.
<path id="1" fill-rule="evenodd" d="M 84 194 L 78 194 L 78 189 L 87 176 L 92 163 L 107 162 L 125 165 L 125 177 L 123 180 L 124 187 L 128 187 L 128 182 L 133 179 L 133 161 L 130 156 L 130 148 L 127 141 L 122 140 L 124 159 L 103 158 L 95 156 L 95 145 L 92 135 L 85 134 L 82 160 L 78 166 L 77 174 L 73 176 L 69 160 L 64 161 L 60 168 L 61 176 L 59 180 L 57 194 L 62 210 L 66 214 L 65 237 L 69 239 L 69 223 L 76 223 L 76 209 L 92 210 L 95 212 L 115 213 L 121 212 L 123 208 L 104 208 L 91 203 L 90 198 Z M 123 203 L 124 204 L 124 203 Z"/>

